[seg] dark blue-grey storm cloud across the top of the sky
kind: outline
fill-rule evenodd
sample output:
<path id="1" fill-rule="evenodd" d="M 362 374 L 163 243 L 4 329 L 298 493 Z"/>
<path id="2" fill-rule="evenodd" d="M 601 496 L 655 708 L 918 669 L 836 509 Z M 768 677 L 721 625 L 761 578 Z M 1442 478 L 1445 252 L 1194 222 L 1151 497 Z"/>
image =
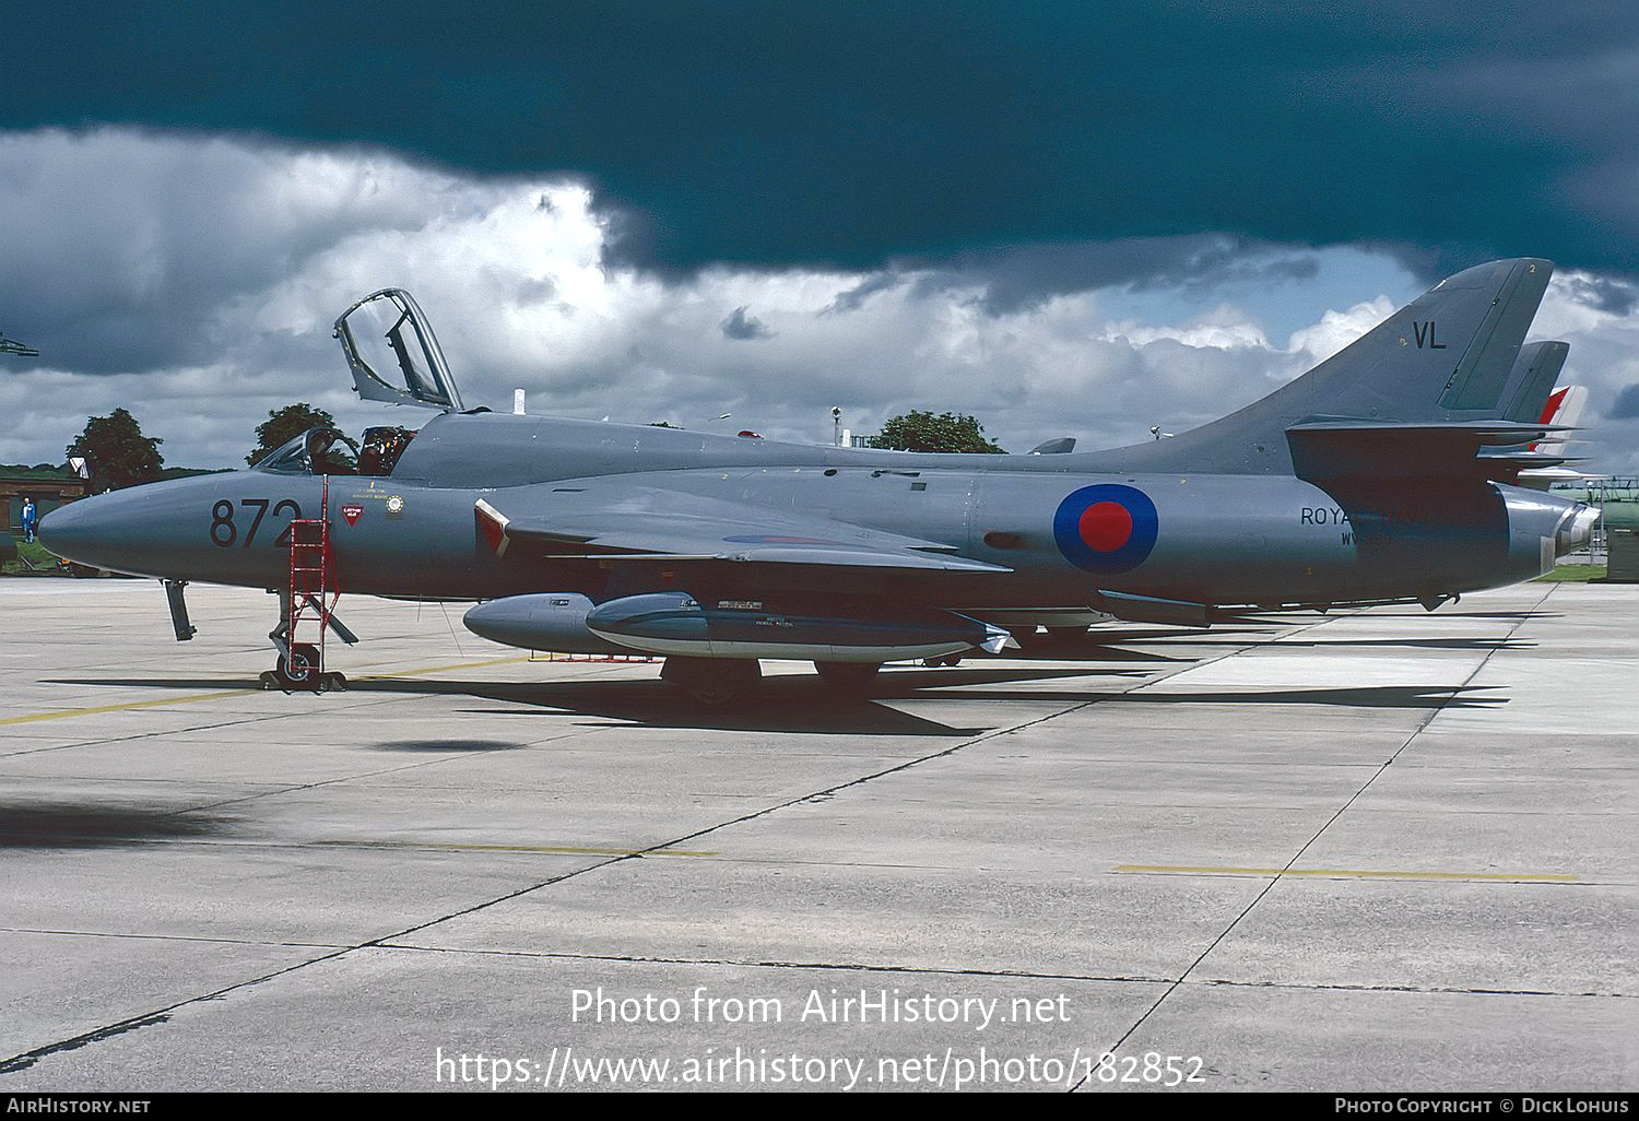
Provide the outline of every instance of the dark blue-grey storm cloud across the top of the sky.
<path id="1" fill-rule="evenodd" d="M 1639 272 L 1631 7 L 1313 8 L 11 5 L 0 128 L 567 170 L 667 272 L 1208 229 Z"/>

